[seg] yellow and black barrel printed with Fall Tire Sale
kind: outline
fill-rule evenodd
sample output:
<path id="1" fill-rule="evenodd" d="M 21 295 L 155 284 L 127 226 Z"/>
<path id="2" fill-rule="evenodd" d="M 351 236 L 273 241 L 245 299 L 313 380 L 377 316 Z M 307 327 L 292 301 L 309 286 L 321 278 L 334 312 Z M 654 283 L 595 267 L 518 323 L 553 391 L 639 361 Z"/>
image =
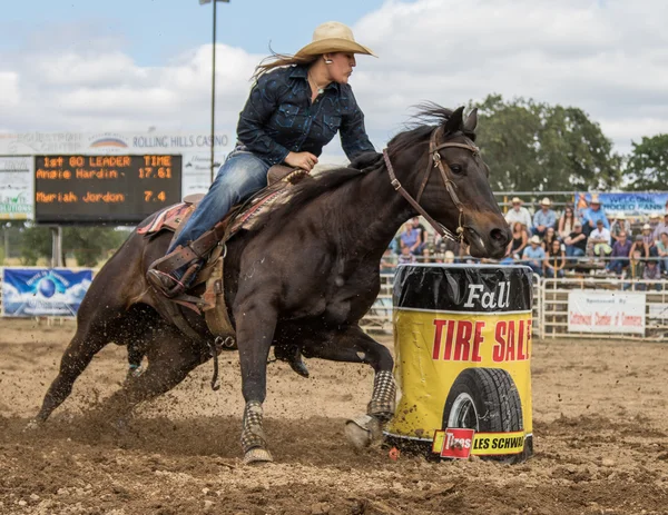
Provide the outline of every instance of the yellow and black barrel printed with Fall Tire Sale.
<path id="1" fill-rule="evenodd" d="M 397 268 L 391 442 L 443 458 L 533 454 L 531 277 L 525 266 Z"/>

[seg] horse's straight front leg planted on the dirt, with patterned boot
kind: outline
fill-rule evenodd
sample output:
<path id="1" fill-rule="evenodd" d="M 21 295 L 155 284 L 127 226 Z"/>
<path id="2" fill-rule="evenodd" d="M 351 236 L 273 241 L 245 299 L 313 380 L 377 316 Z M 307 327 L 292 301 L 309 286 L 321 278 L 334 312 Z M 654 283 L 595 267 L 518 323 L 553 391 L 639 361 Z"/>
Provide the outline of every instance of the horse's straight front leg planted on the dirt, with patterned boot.
<path id="1" fill-rule="evenodd" d="M 276 328 L 271 303 L 240 303 L 235 307 L 237 346 L 242 365 L 242 389 L 246 407 L 242 427 L 244 463 L 273 462 L 263 428 L 267 393 L 267 357 Z"/>

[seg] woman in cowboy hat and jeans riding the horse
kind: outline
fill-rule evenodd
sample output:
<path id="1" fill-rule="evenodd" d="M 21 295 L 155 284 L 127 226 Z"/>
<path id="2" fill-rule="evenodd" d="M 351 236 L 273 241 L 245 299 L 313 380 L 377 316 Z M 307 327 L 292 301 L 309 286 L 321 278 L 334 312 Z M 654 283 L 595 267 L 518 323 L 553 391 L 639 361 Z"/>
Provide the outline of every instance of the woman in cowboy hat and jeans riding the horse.
<path id="1" fill-rule="evenodd" d="M 355 42 L 343 23 L 330 21 L 313 32 L 313 41 L 294 56 L 274 55 L 255 70 L 256 82 L 239 116 L 237 145 L 218 170 L 207 195 L 197 206 L 168 256 L 189 255 L 191 245 L 229 211 L 267 185 L 273 165 L 313 170 L 322 149 L 340 132 L 348 159 L 375 151 L 364 129 L 348 79 L 355 53 L 373 52 Z M 210 249 L 208 249 L 210 250 Z M 203 254 L 208 254 L 203 252 Z M 171 257 L 171 256 L 169 256 Z M 178 259 L 151 265 L 147 278 L 169 297 L 185 290 L 179 280 L 187 266 Z M 171 269 L 169 269 L 171 268 Z"/>

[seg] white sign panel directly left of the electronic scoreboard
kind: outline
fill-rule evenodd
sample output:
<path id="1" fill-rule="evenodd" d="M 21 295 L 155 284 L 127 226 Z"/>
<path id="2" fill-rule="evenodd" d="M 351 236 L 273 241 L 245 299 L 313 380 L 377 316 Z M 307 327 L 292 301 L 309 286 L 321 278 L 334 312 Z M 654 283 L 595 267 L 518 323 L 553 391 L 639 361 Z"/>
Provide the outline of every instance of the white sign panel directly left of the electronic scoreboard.
<path id="1" fill-rule="evenodd" d="M 0 220 L 32 218 L 32 156 L 0 156 Z"/>

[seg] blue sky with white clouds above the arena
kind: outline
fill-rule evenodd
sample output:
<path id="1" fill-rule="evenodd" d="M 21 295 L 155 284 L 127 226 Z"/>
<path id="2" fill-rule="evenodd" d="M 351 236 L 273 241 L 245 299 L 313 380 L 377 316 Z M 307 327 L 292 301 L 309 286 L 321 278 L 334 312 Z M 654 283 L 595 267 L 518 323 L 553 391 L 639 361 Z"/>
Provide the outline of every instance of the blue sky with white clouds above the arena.
<path id="1" fill-rule="evenodd" d="M 212 4 L 197 0 L 2 2 L 0 132 L 207 132 Z M 217 4 L 217 130 L 234 132 L 254 67 L 321 22 L 354 31 L 351 85 L 377 148 L 424 100 L 500 93 L 583 109 L 619 152 L 668 131 L 661 0 L 230 0 Z M 342 160 L 335 140 L 322 162 Z"/>

